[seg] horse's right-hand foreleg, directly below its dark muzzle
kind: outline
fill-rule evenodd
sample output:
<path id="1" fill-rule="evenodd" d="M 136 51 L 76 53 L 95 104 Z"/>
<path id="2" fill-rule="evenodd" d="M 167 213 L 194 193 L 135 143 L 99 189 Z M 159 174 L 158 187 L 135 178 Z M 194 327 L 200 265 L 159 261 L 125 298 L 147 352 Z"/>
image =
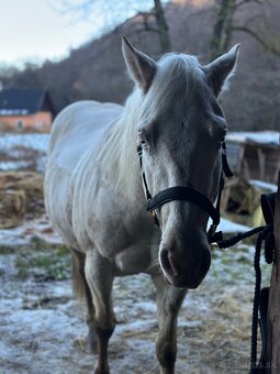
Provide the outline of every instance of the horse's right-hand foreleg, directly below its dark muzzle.
<path id="1" fill-rule="evenodd" d="M 161 276 L 153 280 L 157 289 L 157 359 L 160 373 L 172 374 L 177 355 L 177 317 L 187 290 L 169 286 Z"/>

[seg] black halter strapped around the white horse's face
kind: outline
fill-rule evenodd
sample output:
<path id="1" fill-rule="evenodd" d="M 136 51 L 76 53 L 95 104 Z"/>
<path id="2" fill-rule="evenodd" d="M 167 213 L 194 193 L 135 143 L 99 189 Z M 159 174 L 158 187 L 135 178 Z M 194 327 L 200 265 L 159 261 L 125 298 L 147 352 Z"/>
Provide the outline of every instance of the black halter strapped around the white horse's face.
<path id="1" fill-rule="evenodd" d="M 183 201 L 189 201 L 191 204 L 194 204 L 202 210 L 204 210 L 212 219 L 212 224 L 209 229 L 208 237 L 209 237 L 209 242 L 213 243 L 217 240 L 221 240 L 221 232 L 216 233 L 216 228 L 220 223 L 221 220 L 221 215 L 220 215 L 220 204 L 221 204 L 221 197 L 222 197 L 222 191 L 224 188 L 224 175 L 226 177 L 232 177 L 233 173 L 228 166 L 227 158 L 226 158 L 226 145 L 225 142 L 222 145 L 222 174 L 220 178 L 220 186 L 219 186 L 219 191 L 217 191 L 217 200 L 216 200 L 216 207 L 213 206 L 213 204 L 210 201 L 210 199 L 198 191 L 194 188 L 190 187 L 182 187 L 182 186 L 177 186 L 177 187 L 170 187 L 167 189 L 164 189 L 163 191 L 158 193 L 156 196 L 152 197 L 148 186 L 147 186 L 147 180 L 145 173 L 142 167 L 142 145 L 138 144 L 137 146 L 137 153 L 139 156 L 139 164 L 141 164 L 141 169 L 142 169 L 142 178 L 143 178 L 143 184 L 145 187 L 145 193 L 146 193 L 146 198 L 147 198 L 147 210 L 152 212 L 155 224 L 159 226 L 157 215 L 155 210 L 159 207 L 161 207 L 164 204 L 172 201 L 172 200 L 183 200 Z"/>

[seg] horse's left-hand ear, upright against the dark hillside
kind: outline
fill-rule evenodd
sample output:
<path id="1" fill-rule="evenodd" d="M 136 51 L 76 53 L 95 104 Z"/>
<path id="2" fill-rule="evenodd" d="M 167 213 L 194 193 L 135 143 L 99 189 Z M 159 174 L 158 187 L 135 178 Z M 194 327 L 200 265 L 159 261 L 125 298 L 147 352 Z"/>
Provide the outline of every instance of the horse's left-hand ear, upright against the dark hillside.
<path id="1" fill-rule="evenodd" d="M 156 62 L 134 48 L 125 36 L 123 36 L 122 50 L 126 67 L 133 80 L 146 94 L 157 70 Z"/>

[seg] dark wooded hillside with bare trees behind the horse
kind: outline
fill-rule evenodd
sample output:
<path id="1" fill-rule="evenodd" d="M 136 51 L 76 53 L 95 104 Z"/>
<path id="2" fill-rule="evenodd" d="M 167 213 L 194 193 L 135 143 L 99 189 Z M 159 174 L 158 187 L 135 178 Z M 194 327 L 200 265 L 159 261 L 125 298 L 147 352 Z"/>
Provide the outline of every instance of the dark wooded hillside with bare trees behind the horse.
<path id="1" fill-rule="evenodd" d="M 94 0 L 83 0 L 80 7 Z M 176 51 L 199 56 L 201 64 L 240 43 L 236 76 L 222 97 L 229 129 L 280 130 L 279 0 L 154 3 L 150 12 L 88 41 L 60 62 L 46 61 L 41 67 L 26 64 L 23 70 L 1 68 L 2 87 L 44 87 L 57 112 L 82 99 L 123 103 L 133 85 L 121 53 L 122 35 L 154 58 Z"/>

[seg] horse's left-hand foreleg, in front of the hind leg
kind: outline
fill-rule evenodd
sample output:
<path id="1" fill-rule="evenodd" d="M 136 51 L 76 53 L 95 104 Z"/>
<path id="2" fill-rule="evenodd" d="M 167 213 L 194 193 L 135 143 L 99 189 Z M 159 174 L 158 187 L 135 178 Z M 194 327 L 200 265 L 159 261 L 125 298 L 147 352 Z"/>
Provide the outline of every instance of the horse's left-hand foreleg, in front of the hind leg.
<path id="1" fill-rule="evenodd" d="M 108 374 L 108 344 L 114 327 L 115 318 L 112 308 L 111 293 L 113 270 L 110 261 L 93 250 L 86 255 L 86 279 L 88 282 L 94 306 L 93 326 L 98 342 L 98 361 L 96 374 Z"/>

